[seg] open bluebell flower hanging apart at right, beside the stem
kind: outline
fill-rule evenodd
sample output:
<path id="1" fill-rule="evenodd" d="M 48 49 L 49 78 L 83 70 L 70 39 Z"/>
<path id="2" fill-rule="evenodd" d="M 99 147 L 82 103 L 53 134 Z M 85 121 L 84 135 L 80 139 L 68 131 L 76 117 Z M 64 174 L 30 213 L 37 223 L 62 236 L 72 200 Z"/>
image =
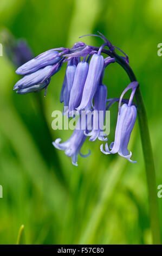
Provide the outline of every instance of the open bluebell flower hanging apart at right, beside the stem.
<path id="1" fill-rule="evenodd" d="M 111 143 L 110 149 L 108 144 L 105 145 L 105 150 L 103 150 L 103 144 L 100 146 L 102 153 L 104 154 L 115 154 L 118 153 L 120 156 L 125 157 L 128 161 L 135 163 L 137 161 L 132 161 L 132 152 L 128 151 L 127 146 L 129 143 L 129 138 L 133 130 L 135 120 L 137 118 L 137 109 L 135 106 L 128 106 L 124 104 L 121 106 L 120 114 L 118 113 L 118 120 L 115 130 L 115 141 Z"/>

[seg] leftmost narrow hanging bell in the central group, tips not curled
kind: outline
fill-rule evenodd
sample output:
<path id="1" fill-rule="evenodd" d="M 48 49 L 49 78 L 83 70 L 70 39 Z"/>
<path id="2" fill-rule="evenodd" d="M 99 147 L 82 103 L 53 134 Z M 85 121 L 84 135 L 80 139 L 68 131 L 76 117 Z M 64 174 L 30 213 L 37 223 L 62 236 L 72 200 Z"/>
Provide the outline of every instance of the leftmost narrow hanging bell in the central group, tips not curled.
<path id="1" fill-rule="evenodd" d="M 68 65 L 66 69 L 66 80 L 65 80 L 65 87 L 63 90 L 63 102 L 64 106 L 69 106 L 69 98 L 70 98 L 70 91 L 73 86 L 74 75 L 75 75 L 76 66 L 75 65 Z"/>

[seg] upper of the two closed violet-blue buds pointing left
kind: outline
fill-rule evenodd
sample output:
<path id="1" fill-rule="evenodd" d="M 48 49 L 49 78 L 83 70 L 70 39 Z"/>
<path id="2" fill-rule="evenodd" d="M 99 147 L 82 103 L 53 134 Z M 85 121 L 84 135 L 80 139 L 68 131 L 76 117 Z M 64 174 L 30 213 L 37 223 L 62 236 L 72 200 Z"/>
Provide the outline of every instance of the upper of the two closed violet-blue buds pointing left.
<path id="1" fill-rule="evenodd" d="M 36 70 L 41 69 L 44 66 L 54 65 L 61 59 L 61 57 L 57 56 L 57 54 L 59 54 L 59 52 L 57 51 L 43 52 L 34 59 L 31 59 L 29 60 L 29 62 L 20 66 L 16 70 L 16 73 L 18 75 L 25 75 L 28 73 L 35 72 Z"/>

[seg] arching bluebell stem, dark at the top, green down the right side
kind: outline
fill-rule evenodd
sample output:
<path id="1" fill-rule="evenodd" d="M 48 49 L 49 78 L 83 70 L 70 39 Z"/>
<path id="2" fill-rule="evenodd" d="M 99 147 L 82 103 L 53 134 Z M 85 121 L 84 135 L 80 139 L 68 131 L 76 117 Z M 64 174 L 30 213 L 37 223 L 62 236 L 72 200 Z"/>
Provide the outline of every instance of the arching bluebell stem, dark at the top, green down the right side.
<path id="1" fill-rule="evenodd" d="M 97 50 L 97 48 L 98 47 L 95 47 L 95 50 Z M 105 50 L 105 49 L 103 49 L 102 52 L 115 58 L 115 61 L 119 63 L 122 66 L 122 68 L 124 68 L 124 70 L 127 72 L 127 75 L 129 76 L 131 82 L 137 81 L 131 67 L 125 62 L 123 58 L 121 58 L 115 52 L 109 52 L 108 50 Z M 147 114 L 146 114 L 144 101 L 142 99 L 142 95 L 139 87 L 135 92 L 135 99 L 137 101 L 137 106 L 138 106 L 140 135 L 141 135 L 142 150 L 144 154 L 145 167 L 146 167 L 152 239 L 153 239 L 153 244 L 158 245 L 161 242 L 161 237 L 160 237 L 158 198 L 157 198 L 157 192 L 156 192 L 155 168 L 154 168 L 154 161 L 153 161 L 152 146 L 150 141 L 150 133 L 148 130 Z"/>

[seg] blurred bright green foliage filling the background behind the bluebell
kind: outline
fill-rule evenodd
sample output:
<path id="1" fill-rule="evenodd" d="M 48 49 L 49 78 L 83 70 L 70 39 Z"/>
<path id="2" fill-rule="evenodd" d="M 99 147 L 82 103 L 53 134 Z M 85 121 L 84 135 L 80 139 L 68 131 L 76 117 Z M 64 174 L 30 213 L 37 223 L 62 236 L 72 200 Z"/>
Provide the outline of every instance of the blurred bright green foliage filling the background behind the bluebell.
<path id="1" fill-rule="evenodd" d="M 54 47 L 72 47 L 80 35 L 97 31 L 128 54 L 146 104 L 157 186 L 162 184 L 162 57 L 157 55 L 161 25 L 161 0 L 0 2 L 0 29 L 27 39 L 36 55 Z M 102 43 L 90 37 L 83 41 Z M 71 133 L 51 129 L 51 113 L 62 109 L 64 70 L 52 78 L 45 99 L 43 92 L 17 95 L 12 88 L 20 77 L 7 56 L 0 57 L 0 243 L 16 243 L 22 223 L 29 244 L 151 243 L 138 122 L 129 144 L 137 164 L 103 155 L 99 141 L 87 141 L 82 152 L 90 148 L 92 154 L 79 157 L 75 167 L 51 145 Z M 118 64 L 106 70 L 109 97 L 119 97 L 128 82 Z M 108 143 L 114 138 L 117 111 L 113 106 Z M 161 217 L 162 199 L 158 200 Z"/>

